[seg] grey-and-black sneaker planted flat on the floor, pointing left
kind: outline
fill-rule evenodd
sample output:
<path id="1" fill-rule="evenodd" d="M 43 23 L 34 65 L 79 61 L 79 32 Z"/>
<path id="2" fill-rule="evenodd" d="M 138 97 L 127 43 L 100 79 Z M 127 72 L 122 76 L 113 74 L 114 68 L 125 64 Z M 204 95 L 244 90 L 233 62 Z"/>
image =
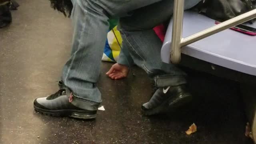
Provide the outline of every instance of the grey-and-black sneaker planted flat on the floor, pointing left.
<path id="1" fill-rule="evenodd" d="M 66 90 L 60 89 L 48 97 L 34 100 L 34 109 L 36 112 L 48 116 L 69 116 L 81 119 L 96 118 L 97 110 L 84 110 L 74 106 L 71 102 L 72 95 L 67 96 Z"/>

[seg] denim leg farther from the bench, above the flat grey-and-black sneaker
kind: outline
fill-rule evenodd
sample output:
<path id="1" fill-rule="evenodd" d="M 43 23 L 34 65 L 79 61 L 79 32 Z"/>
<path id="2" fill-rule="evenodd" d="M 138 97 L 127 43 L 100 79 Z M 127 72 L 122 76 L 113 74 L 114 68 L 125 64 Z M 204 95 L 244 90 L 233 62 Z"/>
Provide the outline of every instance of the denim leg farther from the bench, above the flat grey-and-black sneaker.
<path id="1" fill-rule="evenodd" d="M 72 0 L 72 50 L 62 72 L 67 94 L 73 96 L 72 104 L 87 110 L 97 110 L 101 102 L 96 82 L 100 75 L 109 18 L 127 15 L 134 9 L 158 1 L 160 0 Z"/>

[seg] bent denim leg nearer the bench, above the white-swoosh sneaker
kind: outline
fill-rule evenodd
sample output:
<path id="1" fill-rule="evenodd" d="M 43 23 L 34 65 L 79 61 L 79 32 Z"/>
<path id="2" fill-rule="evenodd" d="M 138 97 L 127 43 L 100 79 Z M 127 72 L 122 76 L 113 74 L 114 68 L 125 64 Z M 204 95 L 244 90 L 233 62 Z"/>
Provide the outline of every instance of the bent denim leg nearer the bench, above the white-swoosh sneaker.
<path id="1" fill-rule="evenodd" d="M 185 9 L 200 0 L 185 0 Z M 186 83 L 186 74 L 174 66 L 162 62 L 162 42 L 152 28 L 168 20 L 173 13 L 173 0 L 163 0 L 135 10 L 131 16 L 120 19 L 123 47 L 127 47 L 136 65 L 154 78 L 157 87 L 177 86 Z"/>

